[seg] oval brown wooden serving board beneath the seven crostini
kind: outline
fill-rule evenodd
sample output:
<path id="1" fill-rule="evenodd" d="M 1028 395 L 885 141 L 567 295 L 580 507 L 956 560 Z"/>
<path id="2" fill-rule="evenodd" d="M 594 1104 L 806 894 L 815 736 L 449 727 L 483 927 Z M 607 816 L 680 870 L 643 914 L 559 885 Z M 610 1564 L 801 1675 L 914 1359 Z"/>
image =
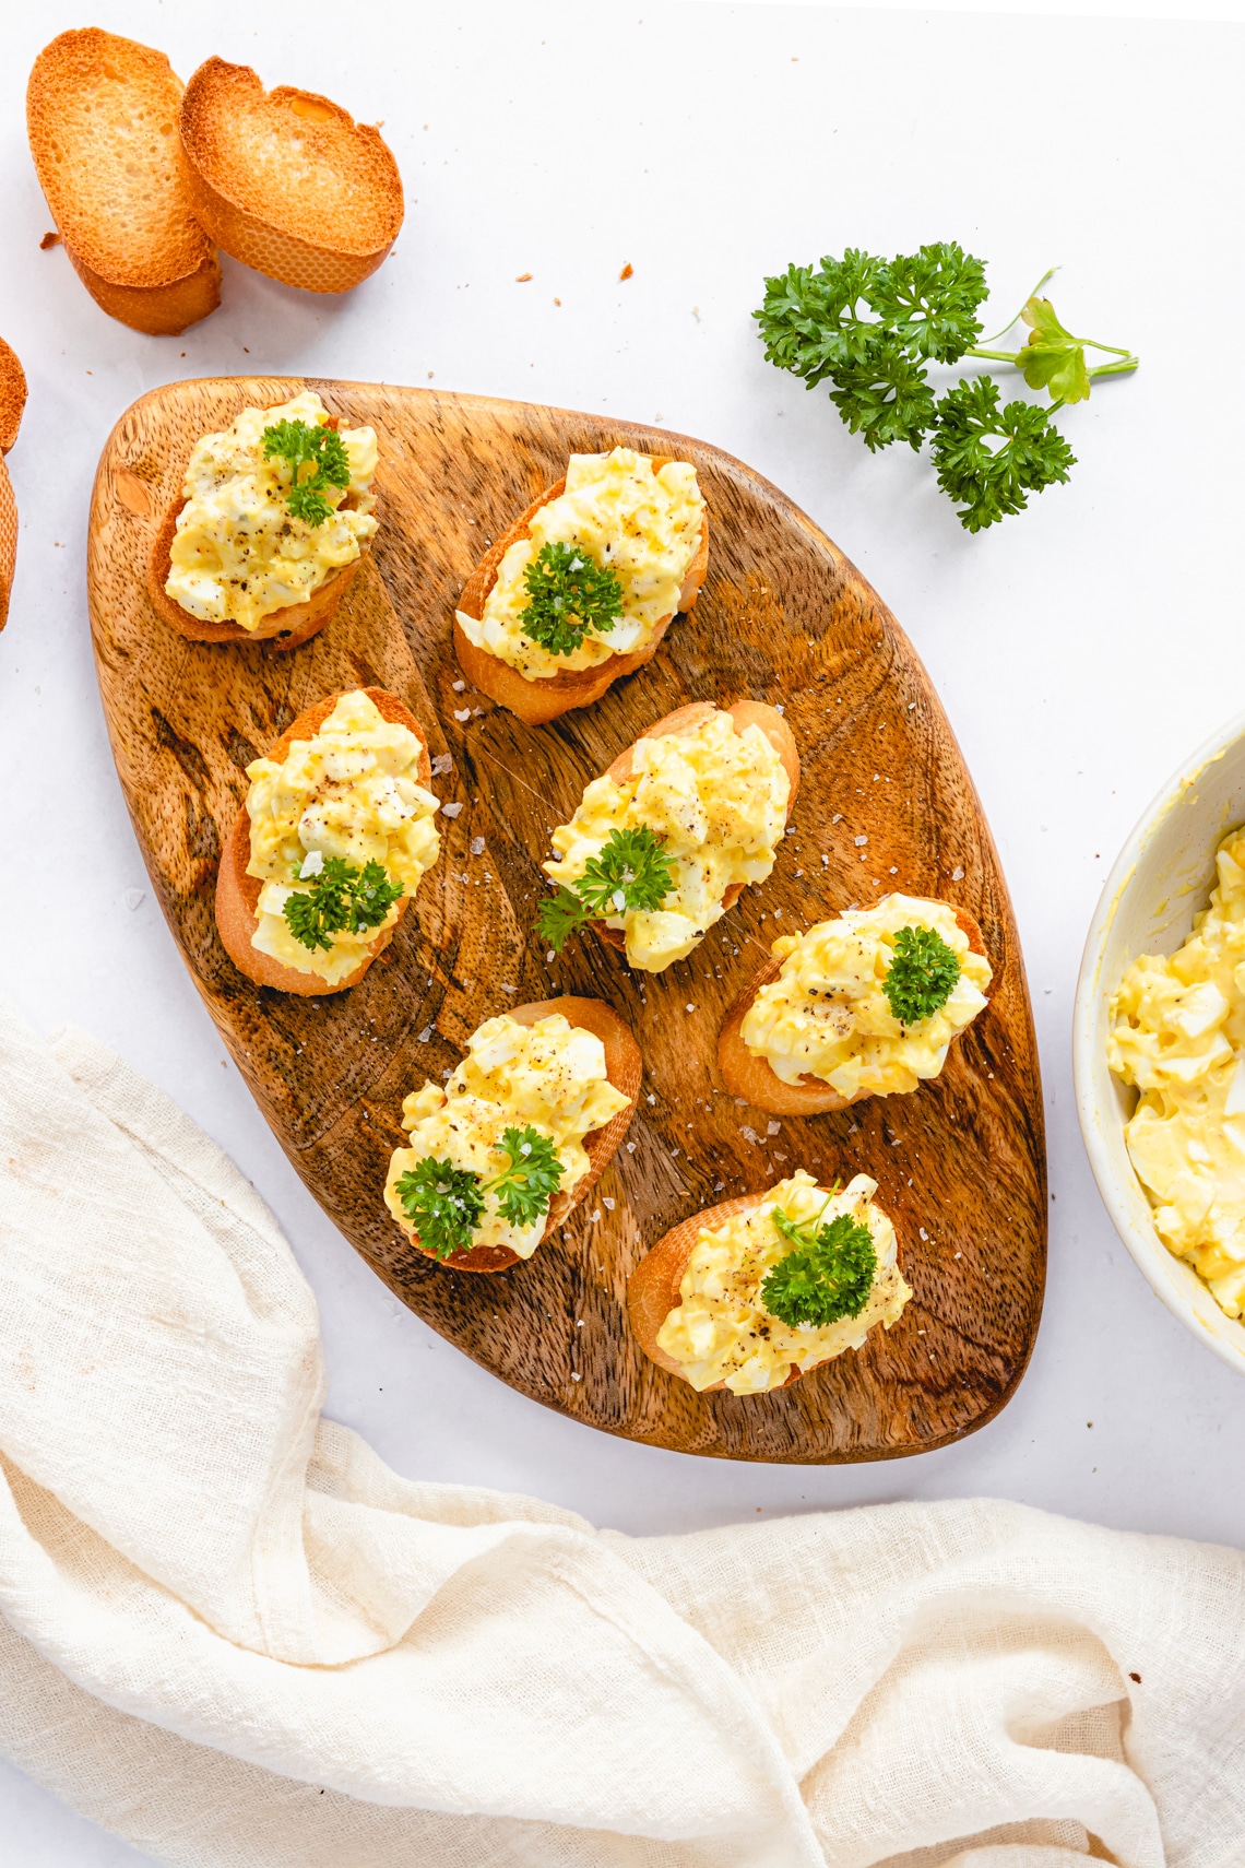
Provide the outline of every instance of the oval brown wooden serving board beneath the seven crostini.
<path id="1" fill-rule="evenodd" d="M 155 616 L 144 566 L 198 435 L 248 403 L 315 389 L 379 435 L 381 531 L 325 631 L 293 652 L 196 644 Z M 569 452 L 627 443 L 696 463 L 709 575 L 657 658 L 595 706 L 528 729 L 463 678 L 450 622 L 487 544 Z M 776 488 L 700 441 L 595 415 L 364 383 L 175 383 L 118 422 L 95 482 L 90 609 L 112 751 L 151 882 L 235 1063 L 321 1207 L 435 1330 L 573 1420 L 728 1459 L 851 1461 L 943 1446 L 995 1414 L 1042 1309 L 1045 1151 L 1025 973 L 999 859 L 911 644 L 844 555 Z M 308 702 L 381 686 L 452 770 L 442 856 L 392 945 L 325 999 L 254 986 L 217 936 L 217 863 L 245 768 Z M 595 936 L 549 966 L 532 932 L 549 831 L 646 725 L 687 700 L 786 708 L 803 760 L 767 884 L 696 955 L 633 975 Z M 868 839 L 862 842 L 860 839 Z M 888 889 L 961 904 L 999 990 L 935 1083 L 840 1115 L 775 1123 L 717 1074 L 726 1007 L 784 930 Z M 474 1027 L 558 992 L 631 1024 L 646 1082 L 629 1149 L 532 1261 L 493 1278 L 413 1252 L 381 1190 L 401 1098 L 441 1078 Z M 795 1168 L 874 1175 L 913 1300 L 887 1336 L 773 1395 L 698 1395 L 627 1326 L 627 1276 L 670 1225 Z"/>

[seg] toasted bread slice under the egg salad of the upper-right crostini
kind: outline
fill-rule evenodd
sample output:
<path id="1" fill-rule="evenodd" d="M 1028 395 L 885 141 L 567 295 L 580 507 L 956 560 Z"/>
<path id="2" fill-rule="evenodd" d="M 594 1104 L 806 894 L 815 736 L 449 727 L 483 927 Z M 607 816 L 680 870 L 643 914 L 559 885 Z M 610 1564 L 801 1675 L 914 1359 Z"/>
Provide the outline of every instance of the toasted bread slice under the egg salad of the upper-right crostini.
<path id="1" fill-rule="evenodd" d="M 674 460 L 674 456 L 653 454 L 650 460 L 653 461 L 653 473 L 661 473 L 661 469 Z M 534 499 L 526 512 L 521 512 L 515 523 L 502 532 L 495 545 L 491 545 L 463 585 L 457 607 L 465 616 L 474 616 L 474 620 L 480 622 L 489 590 L 497 583 L 497 572 L 502 559 L 519 538 L 532 536 L 532 519 L 536 514 L 541 506 L 547 506 L 562 493 L 566 493 L 566 474 L 556 482 L 556 486 L 545 488 L 539 499 Z M 511 669 L 508 661 L 500 661 L 498 656 L 491 656 L 487 648 L 476 648 L 455 616 L 454 654 L 457 656 L 457 665 L 472 687 L 480 689 L 480 693 L 497 700 L 498 706 L 510 708 L 510 712 L 517 714 L 525 725 L 541 727 L 545 721 L 556 719 L 560 714 L 569 714 L 573 708 L 592 706 L 592 702 L 599 700 L 605 689 L 612 687 L 616 680 L 623 674 L 635 674 L 635 671 L 642 669 L 646 661 L 651 661 L 676 615 L 685 615 L 694 607 L 707 568 L 709 516 L 704 514 L 700 521 L 700 545 L 696 547 L 696 557 L 687 566 L 687 577 L 683 579 L 683 588 L 679 590 L 679 607 L 661 618 L 644 648 L 636 648 L 629 656 L 609 656 L 605 661 L 599 661 L 595 669 L 567 669 L 564 674 L 551 674 L 545 680 L 530 682 L 525 674 L 519 674 L 517 669 Z"/>

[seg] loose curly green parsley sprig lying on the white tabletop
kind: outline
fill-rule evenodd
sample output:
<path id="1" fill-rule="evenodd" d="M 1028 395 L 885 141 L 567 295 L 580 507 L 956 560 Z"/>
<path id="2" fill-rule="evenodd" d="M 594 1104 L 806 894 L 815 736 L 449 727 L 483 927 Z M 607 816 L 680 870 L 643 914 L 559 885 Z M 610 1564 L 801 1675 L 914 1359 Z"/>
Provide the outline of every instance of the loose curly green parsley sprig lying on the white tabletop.
<path id="1" fill-rule="evenodd" d="M 959 506 L 969 532 L 1023 512 L 1028 493 L 1068 478 L 1075 454 L 1053 422 L 1066 402 L 1084 402 L 1090 381 L 1137 368 L 1137 357 L 1114 344 L 1077 338 L 1040 297 L 1038 282 L 1010 325 L 986 346 L 978 308 L 986 267 L 956 241 L 879 260 L 849 247 L 814 269 L 790 265 L 765 280 L 760 321 L 765 357 L 812 389 L 829 381 L 840 417 L 870 450 L 905 441 L 920 450 L 930 439 L 939 486 Z M 1017 323 L 1028 327 L 1019 349 L 995 349 Z M 1090 368 L 1086 349 L 1112 361 Z M 1000 403 L 987 375 L 961 381 L 935 398 L 931 362 L 963 357 L 1010 362 L 1030 389 L 1051 396 L 1051 409 L 1027 402 Z"/>

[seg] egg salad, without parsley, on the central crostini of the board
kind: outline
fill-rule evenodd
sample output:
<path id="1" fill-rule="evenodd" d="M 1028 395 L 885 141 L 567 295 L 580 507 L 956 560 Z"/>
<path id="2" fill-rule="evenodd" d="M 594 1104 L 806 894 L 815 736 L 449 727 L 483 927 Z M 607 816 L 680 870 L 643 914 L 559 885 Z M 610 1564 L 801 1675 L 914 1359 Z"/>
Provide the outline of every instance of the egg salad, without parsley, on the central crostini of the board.
<path id="1" fill-rule="evenodd" d="M 610 831 L 648 828 L 674 884 L 650 910 L 627 908 L 618 891 L 603 919 L 623 930 L 631 966 L 661 973 L 720 921 L 732 882 L 763 882 L 775 867 L 790 790 L 762 729 L 735 732 L 730 714 L 715 712 L 694 732 L 638 740 L 622 785 L 609 773 L 594 779 L 571 822 L 554 829 L 558 861 L 545 874 L 573 889 Z"/>

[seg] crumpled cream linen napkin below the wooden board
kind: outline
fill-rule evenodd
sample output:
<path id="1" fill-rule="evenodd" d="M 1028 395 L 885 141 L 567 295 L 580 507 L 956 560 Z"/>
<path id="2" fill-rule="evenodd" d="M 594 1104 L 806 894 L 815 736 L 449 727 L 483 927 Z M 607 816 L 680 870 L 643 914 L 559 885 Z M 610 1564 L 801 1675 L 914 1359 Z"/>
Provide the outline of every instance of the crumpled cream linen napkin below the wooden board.
<path id="1" fill-rule="evenodd" d="M 321 1399 L 231 1162 L 0 1009 L 0 1750 L 75 1808 L 185 1868 L 1245 1862 L 1234 1550 L 987 1502 L 627 1539 Z"/>

